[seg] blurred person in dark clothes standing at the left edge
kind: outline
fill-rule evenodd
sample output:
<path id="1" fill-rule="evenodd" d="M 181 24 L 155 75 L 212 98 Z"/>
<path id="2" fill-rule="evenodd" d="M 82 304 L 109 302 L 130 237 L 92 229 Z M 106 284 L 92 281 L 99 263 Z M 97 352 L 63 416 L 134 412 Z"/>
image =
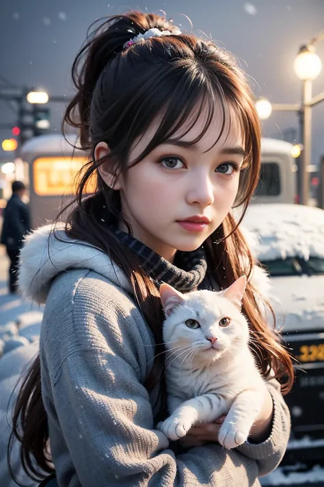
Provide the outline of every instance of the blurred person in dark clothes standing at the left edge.
<path id="1" fill-rule="evenodd" d="M 12 197 L 3 210 L 3 227 L 1 244 L 5 245 L 10 259 L 9 288 L 10 292 L 18 290 L 19 253 L 23 246 L 23 238 L 30 231 L 29 208 L 23 202 L 25 184 L 21 181 L 12 183 Z"/>

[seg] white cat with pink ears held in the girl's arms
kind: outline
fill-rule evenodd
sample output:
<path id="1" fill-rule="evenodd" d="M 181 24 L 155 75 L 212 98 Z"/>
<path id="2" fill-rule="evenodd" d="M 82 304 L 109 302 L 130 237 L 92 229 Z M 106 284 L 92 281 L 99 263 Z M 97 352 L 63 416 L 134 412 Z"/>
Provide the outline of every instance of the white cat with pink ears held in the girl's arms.
<path id="1" fill-rule="evenodd" d="M 265 397 L 265 380 L 249 350 L 249 327 L 241 313 L 246 277 L 221 292 L 183 295 L 162 284 L 167 349 L 167 405 L 157 426 L 178 440 L 197 423 L 227 414 L 218 441 L 226 449 L 249 436 Z"/>

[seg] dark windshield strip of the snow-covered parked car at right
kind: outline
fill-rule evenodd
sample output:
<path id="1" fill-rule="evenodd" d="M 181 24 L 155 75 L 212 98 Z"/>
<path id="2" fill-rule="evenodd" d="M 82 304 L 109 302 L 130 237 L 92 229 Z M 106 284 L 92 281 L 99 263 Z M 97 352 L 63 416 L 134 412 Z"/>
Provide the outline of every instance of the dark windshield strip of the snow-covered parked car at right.
<path id="1" fill-rule="evenodd" d="M 271 277 L 324 274 L 324 259 L 319 257 L 310 257 L 309 260 L 300 257 L 263 260 L 261 264 Z"/>

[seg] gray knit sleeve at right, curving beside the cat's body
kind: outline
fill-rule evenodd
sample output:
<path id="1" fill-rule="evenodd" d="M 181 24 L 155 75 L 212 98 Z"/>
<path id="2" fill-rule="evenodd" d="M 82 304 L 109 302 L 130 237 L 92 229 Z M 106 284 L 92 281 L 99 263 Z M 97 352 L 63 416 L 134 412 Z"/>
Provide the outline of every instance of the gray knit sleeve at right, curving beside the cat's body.
<path id="1" fill-rule="evenodd" d="M 259 475 L 267 475 L 281 462 L 291 432 L 291 416 L 280 392 L 280 384 L 275 379 L 267 382 L 273 400 L 273 423 L 271 434 L 262 443 L 252 444 L 248 441 L 237 449 L 249 458 L 258 462 Z"/>

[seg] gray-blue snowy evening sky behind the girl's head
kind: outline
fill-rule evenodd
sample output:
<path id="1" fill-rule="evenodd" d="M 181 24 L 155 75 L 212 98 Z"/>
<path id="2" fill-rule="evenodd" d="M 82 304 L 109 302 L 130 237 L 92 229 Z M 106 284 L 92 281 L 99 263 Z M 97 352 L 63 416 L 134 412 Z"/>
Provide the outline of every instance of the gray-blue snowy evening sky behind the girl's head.
<path id="1" fill-rule="evenodd" d="M 277 103 L 298 103 L 301 82 L 293 71 L 295 55 L 324 28 L 324 0 L 2 0 L 0 18 L 0 88 L 4 82 L 70 96 L 70 67 L 96 18 L 130 9 L 164 10 L 174 23 L 211 35 L 239 58 L 256 95 Z M 324 64 L 324 41 L 316 49 Z M 324 66 L 314 94 L 324 90 Z M 60 129 L 64 105 L 50 104 L 51 131 Z M 0 101 L 0 123 L 15 123 Z M 266 136 L 284 138 L 297 129 L 295 114 L 274 114 L 264 124 Z M 1 140 L 10 131 L 0 131 Z M 312 162 L 324 155 L 324 102 L 313 110 Z M 0 149 L 1 151 L 1 149 Z M 1 153 L 0 153 L 1 155 Z"/>

